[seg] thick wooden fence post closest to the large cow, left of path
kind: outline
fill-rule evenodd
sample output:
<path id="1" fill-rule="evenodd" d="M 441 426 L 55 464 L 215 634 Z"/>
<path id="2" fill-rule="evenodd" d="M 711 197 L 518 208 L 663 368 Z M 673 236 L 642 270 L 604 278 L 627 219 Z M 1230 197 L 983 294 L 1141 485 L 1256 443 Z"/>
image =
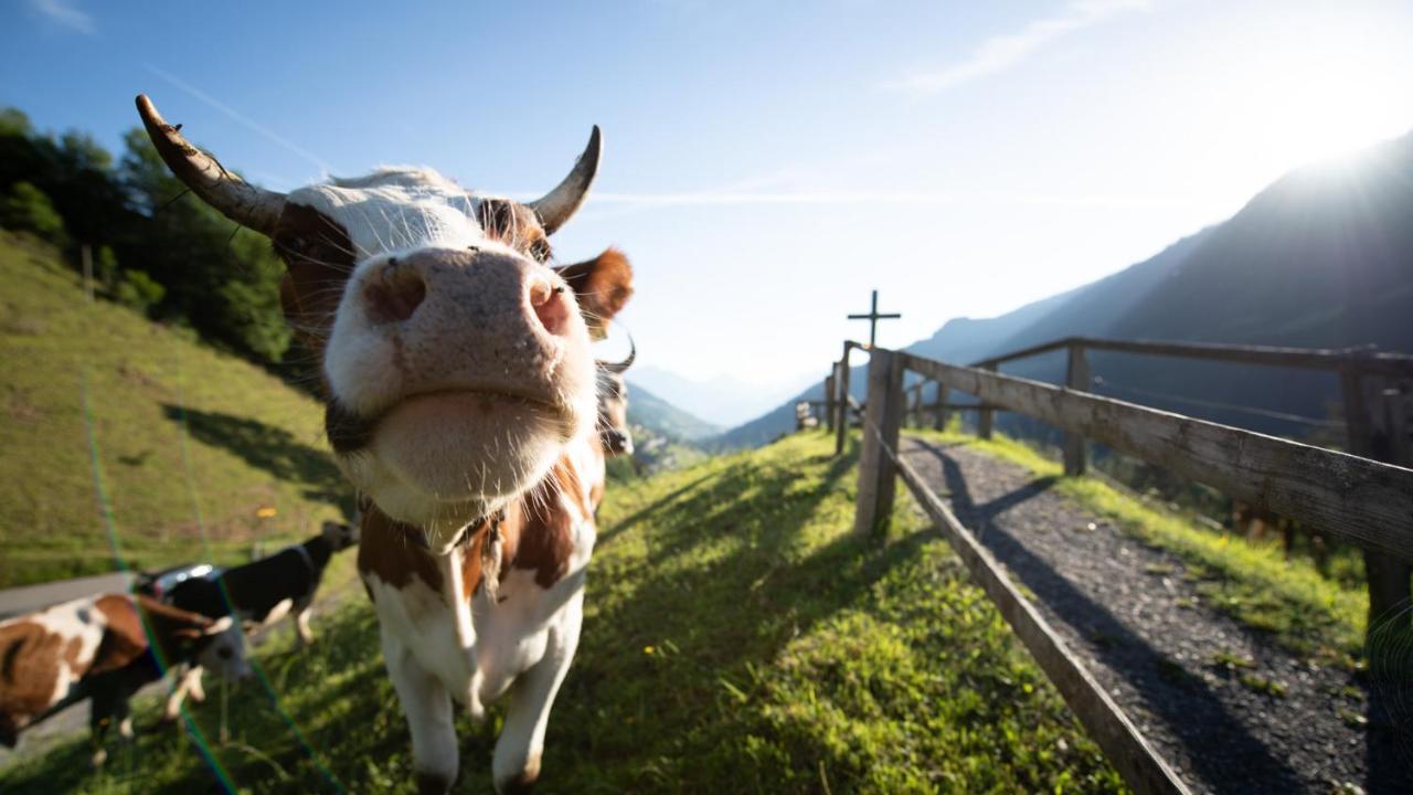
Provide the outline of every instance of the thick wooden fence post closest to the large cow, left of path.
<path id="1" fill-rule="evenodd" d="M 883 446 L 897 450 L 903 400 L 903 366 L 897 354 L 882 348 L 870 349 L 863 450 L 859 454 L 859 497 L 853 513 L 853 532 L 863 538 L 886 532 L 893 515 L 897 465 Z"/>

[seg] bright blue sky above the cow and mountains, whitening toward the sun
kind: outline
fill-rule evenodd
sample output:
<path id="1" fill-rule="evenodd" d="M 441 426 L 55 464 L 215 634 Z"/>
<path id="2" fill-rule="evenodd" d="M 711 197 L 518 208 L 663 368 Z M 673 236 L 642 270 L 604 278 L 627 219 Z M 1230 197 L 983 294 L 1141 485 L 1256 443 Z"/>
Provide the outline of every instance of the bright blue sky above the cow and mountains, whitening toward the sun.
<path id="1" fill-rule="evenodd" d="M 0 103 L 112 149 L 133 95 L 288 190 L 384 163 L 537 195 L 603 127 L 562 259 L 623 248 L 640 361 L 776 392 L 1140 260 L 1413 129 L 1413 3 L 0 7 Z"/>

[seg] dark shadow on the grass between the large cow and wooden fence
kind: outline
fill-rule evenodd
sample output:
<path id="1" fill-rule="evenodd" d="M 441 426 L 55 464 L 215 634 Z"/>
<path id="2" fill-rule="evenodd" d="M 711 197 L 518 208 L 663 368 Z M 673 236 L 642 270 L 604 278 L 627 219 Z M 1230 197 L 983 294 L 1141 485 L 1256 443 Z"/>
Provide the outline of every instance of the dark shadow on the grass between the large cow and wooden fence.
<path id="1" fill-rule="evenodd" d="M 592 570 L 584 639 L 550 721 L 545 787 L 798 787 L 755 755 L 749 734 L 769 727 L 742 709 L 760 695 L 753 672 L 841 610 L 868 610 L 875 583 L 933 540 L 869 545 L 835 535 L 838 522 L 832 540 L 803 538 L 836 492 L 845 499 L 828 509 L 852 516 L 852 484 L 841 481 L 856 461 L 856 447 L 798 467 L 742 461 L 622 521 L 644 549 Z M 791 750 L 811 774 L 849 764 L 808 733 L 796 733 Z"/>

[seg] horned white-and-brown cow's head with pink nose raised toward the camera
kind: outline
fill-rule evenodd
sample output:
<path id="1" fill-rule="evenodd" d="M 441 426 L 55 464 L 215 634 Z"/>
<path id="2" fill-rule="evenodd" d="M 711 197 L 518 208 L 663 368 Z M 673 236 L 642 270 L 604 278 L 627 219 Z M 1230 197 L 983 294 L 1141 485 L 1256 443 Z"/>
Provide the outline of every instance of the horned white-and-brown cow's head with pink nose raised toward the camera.
<path id="1" fill-rule="evenodd" d="M 548 235 L 588 194 L 598 127 L 569 175 L 527 204 L 425 168 L 285 195 L 226 171 L 146 96 L 137 106 L 192 192 L 273 240 L 285 315 L 321 356 L 339 465 L 434 550 L 593 433 L 589 341 L 632 294 L 632 269 L 615 250 L 551 267 Z"/>

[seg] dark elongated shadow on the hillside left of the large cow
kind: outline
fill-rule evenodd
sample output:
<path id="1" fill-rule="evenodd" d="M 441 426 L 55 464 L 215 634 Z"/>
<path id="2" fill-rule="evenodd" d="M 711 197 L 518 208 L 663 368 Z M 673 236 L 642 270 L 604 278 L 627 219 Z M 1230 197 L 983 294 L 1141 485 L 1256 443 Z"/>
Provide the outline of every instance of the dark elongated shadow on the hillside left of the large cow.
<path id="1" fill-rule="evenodd" d="M 202 412 L 174 403 L 164 403 L 167 419 L 187 422 L 192 439 L 208 447 L 220 447 L 239 455 L 252 467 L 297 484 L 307 499 L 319 499 L 339 506 L 345 516 L 353 515 L 353 495 L 343 474 L 329 455 L 304 444 L 283 427 L 267 426 L 249 417 L 222 412 Z"/>

